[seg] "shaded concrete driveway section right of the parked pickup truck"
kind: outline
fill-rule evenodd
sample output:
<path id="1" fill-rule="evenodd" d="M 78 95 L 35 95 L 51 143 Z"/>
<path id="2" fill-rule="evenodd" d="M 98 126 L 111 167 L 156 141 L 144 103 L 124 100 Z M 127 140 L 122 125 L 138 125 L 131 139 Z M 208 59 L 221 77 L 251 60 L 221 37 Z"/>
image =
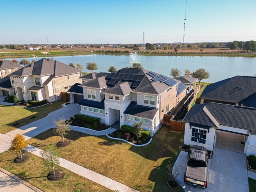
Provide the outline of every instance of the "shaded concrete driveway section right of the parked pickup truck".
<path id="1" fill-rule="evenodd" d="M 206 192 L 249 192 L 245 154 L 214 148 Z"/>

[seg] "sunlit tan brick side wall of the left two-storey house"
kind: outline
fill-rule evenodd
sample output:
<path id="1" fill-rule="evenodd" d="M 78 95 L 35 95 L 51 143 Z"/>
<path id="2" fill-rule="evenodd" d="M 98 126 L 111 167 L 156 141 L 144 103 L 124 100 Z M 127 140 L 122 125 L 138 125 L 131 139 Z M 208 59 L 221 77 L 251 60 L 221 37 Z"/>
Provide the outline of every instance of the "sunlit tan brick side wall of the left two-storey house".
<path id="1" fill-rule="evenodd" d="M 69 89 L 69 87 L 74 85 L 75 83 L 81 83 L 78 73 L 68 75 L 68 78 L 66 75 L 54 78 L 52 80 L 52 86 L 53 86 L 54 95 L 57 96 L 57 100 L 62 99 L 61 92 L 66 92 Z M 64 89 L 64 87 L 68 87 L 68 88 Z"/>

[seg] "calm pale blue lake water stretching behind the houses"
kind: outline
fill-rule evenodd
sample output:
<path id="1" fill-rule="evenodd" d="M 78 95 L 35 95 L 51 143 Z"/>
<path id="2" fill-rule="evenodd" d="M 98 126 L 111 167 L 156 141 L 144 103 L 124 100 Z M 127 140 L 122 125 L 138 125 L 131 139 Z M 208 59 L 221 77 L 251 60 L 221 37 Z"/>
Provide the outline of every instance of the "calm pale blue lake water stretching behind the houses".
<path id="1" fill-rule="evenodd" d="M 28 58 L 31 61 L 33 58 Z M 34 58 L 36 61 L 41 58 Z M 127 55 L 79 55 L 79 56 L 59 56 L 54 60 L 69 64 L 82 64 L 86 70 L 86 62 L 96 62 L 98 70 L 94 72 L 108 72 L 109 66 L 129 67 L 132 62 L 131 56 Z M 17 59 L 20 61 L 21 59 Z M 216 82 L 236 75 L 254 76 L 256 73 L 256 58 L 246 57 L 211 57 L 211 56 L 136 56 L 135 62 L 140 62 L 142 66 L 166 76 L 170 76 L 171 68 L 178 68 L 181 75 L 186 68 L 190 71 L 198 68 L 205 68 L 210 73 L 210 78 L 203 82 Z"/>

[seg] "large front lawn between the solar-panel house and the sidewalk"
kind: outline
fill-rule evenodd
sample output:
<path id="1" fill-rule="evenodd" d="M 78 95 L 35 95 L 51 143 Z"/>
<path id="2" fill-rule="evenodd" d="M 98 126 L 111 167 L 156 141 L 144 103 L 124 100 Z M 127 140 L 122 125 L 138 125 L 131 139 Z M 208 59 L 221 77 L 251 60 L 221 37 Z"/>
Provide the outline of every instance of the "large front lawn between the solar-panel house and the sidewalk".
<path id="1" fill-rule="evenodd" d="M 61 157 L 141 192 L 170 191 L 167 186 L 169 177 L 166 164 L 175 162 L 183 143 L 183 134 L 169 132 L 168 126 L 162 127 L 147 146 L 135 147 L 122 141 L 111 140 L 106 136 L 89 136 L 70 131 L 66 135 L 71 141 L 69 146 L 60 148 Z M 48 144 L 61 140 L 50 129 L 29 144 L 44 149 Z M 183 191 L 181 188 L 173 191 Z"/>

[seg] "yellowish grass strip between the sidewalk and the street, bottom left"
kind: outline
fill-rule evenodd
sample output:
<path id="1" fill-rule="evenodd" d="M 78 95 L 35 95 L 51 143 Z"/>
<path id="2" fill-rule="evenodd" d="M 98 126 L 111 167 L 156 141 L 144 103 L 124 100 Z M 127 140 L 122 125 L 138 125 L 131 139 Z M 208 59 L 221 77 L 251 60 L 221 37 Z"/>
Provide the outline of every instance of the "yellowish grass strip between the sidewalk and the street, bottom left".
<path id="1" fill-rule="evenodd" d="M 108 188 L 101 186 L 91 180 L 88 180 L 78 174 L 75 174 L 62 167 L 56 166 L 57 169 L 63 170 L 65 176 L 62 180 L 49 181 L 47 174 L 48 167 L 42 164 L 42 158 L 27 153 L 28 161 L 24 163 L 14 163 L 13 160 L 17 157 L 13 151 L 6 151 L 0 154 L 0 167 L 11 172 L 12 174 L 22 178 L 26 182 L 36 186 L 44 192 L 110 192 Z M 52 170 L 50 168 L 50 170 Z"/>

